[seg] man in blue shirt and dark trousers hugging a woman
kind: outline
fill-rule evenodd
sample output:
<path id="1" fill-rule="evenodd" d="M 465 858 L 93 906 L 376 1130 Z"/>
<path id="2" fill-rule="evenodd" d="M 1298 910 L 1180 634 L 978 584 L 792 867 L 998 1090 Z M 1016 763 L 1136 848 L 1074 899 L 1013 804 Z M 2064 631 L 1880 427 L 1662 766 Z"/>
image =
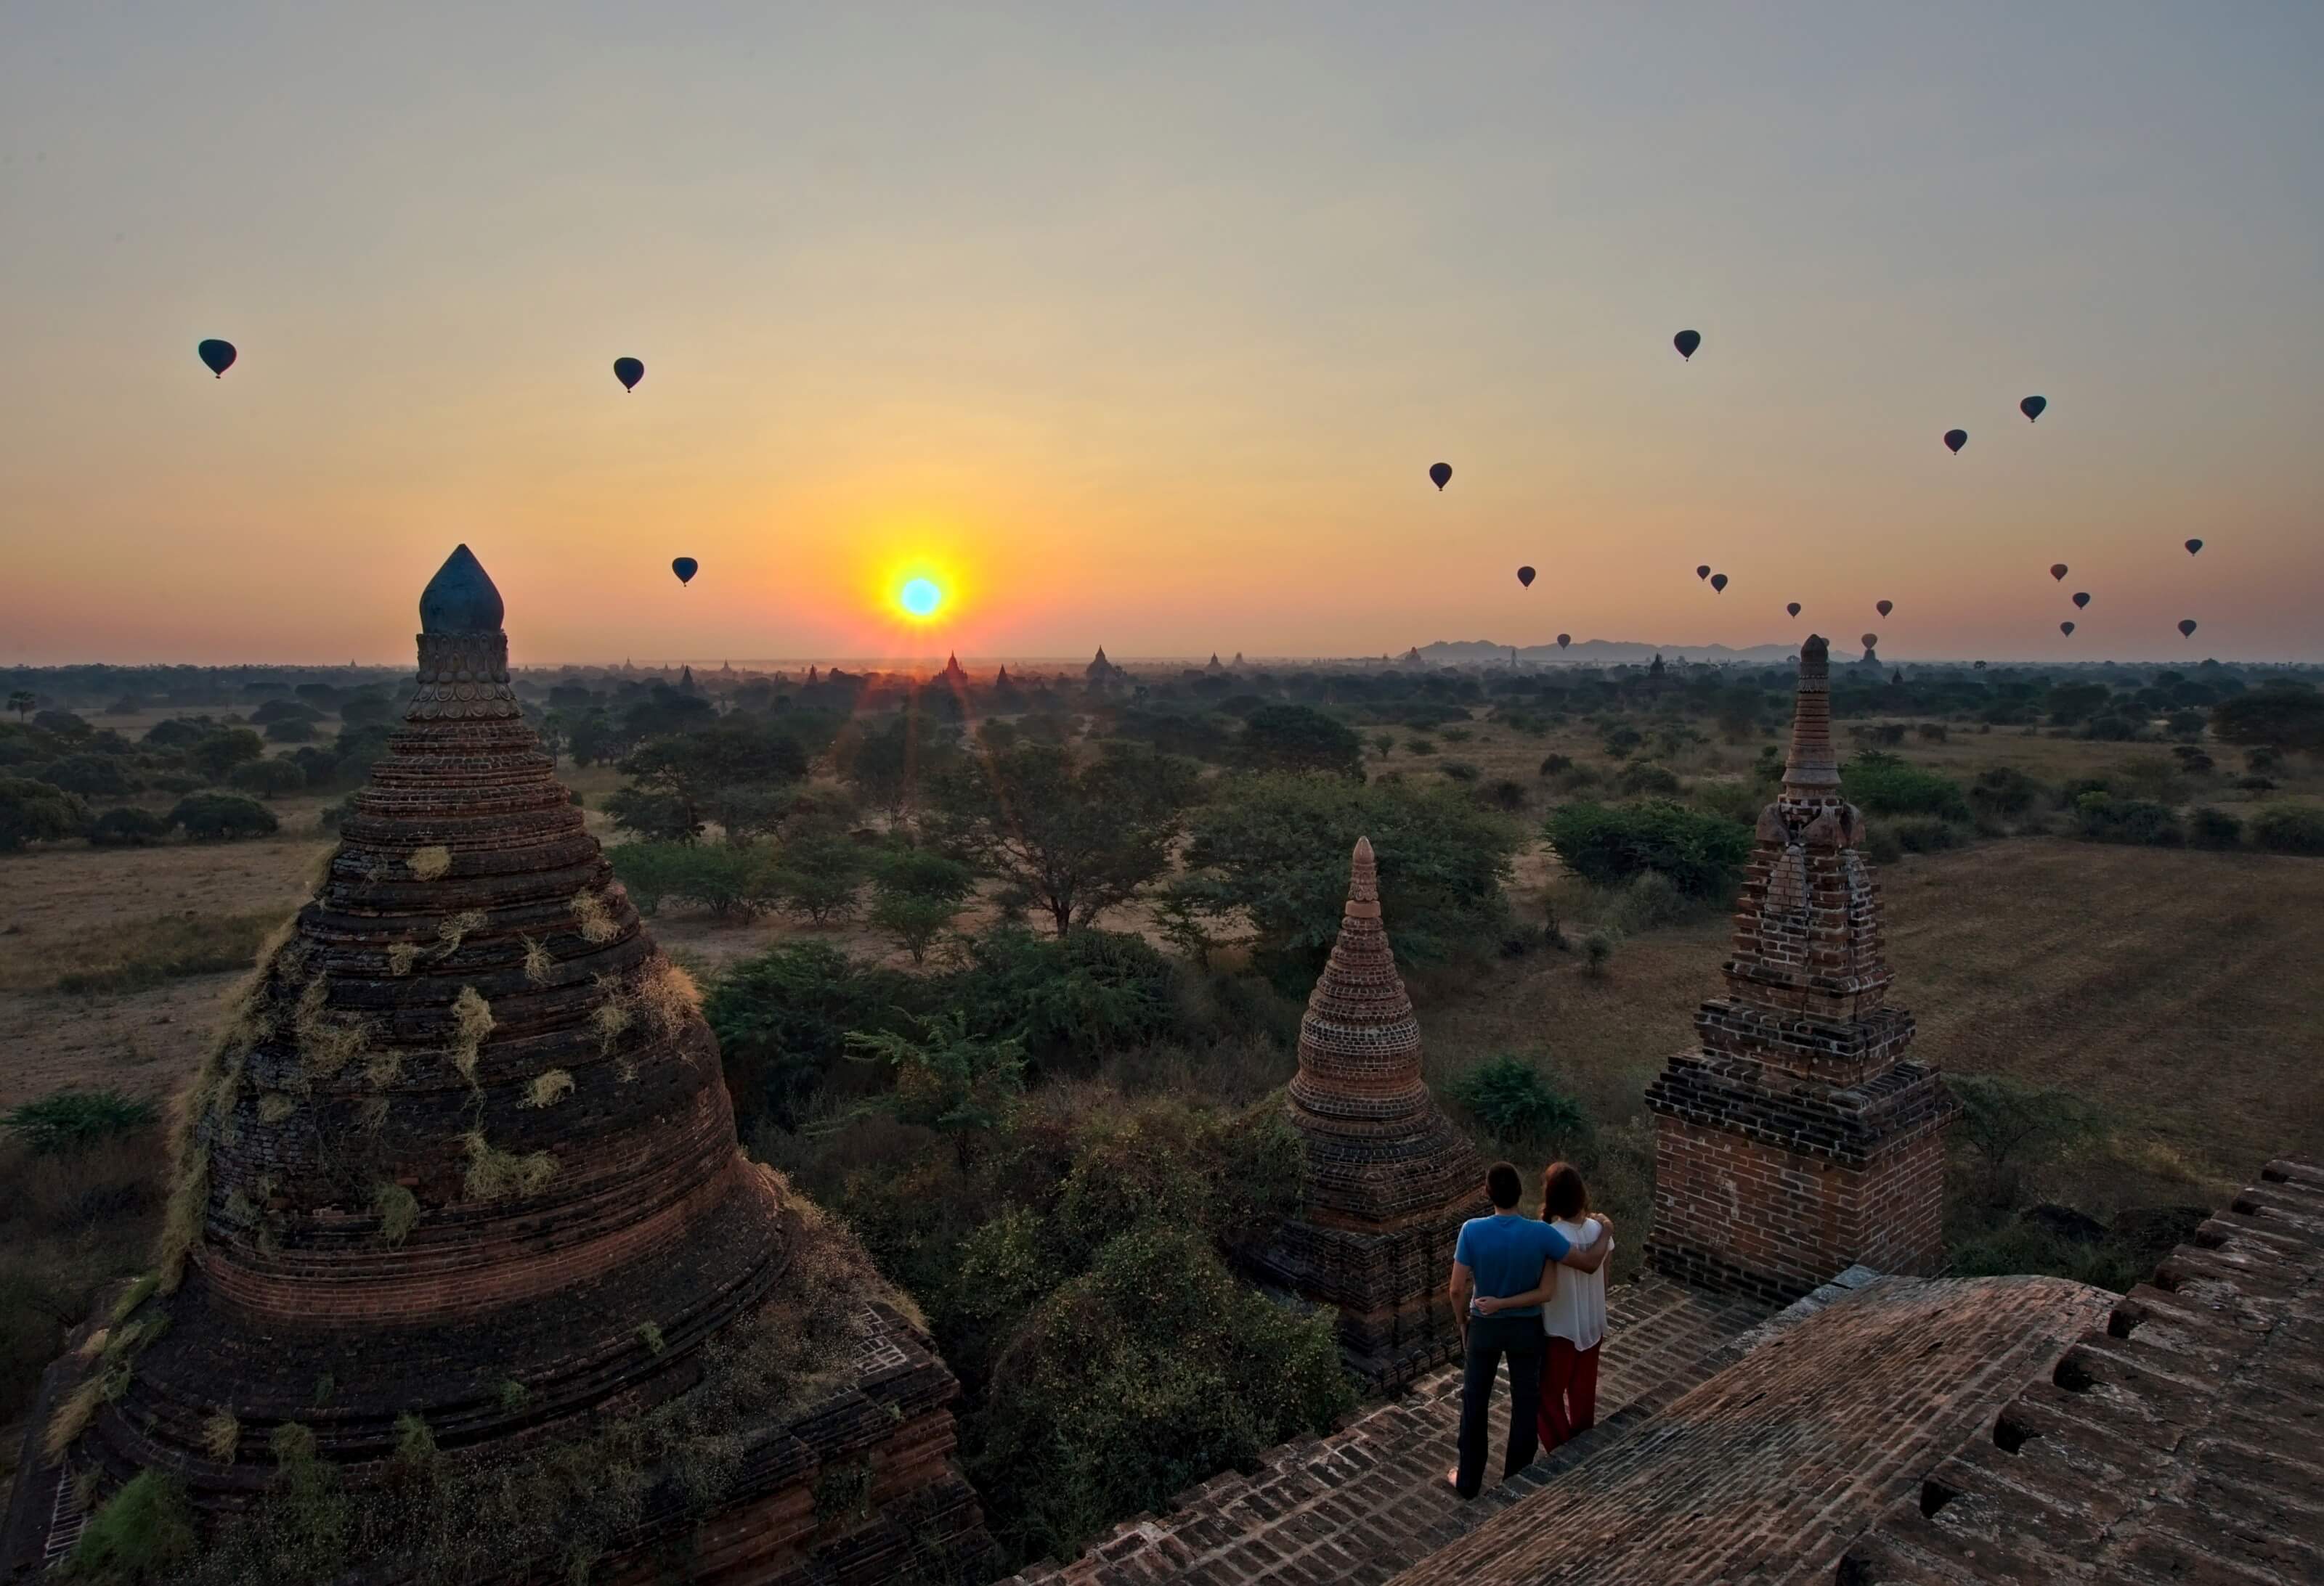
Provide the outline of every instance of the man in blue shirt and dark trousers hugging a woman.
<path id="1" fill-rule="evenodd" d="M 1506 1161 L 1492 1163 L 1485 1173 L 1485 1194 L 1492 1198 L 1492 1217 L 1464 1221 L 1452 1247 L 1452 1314 L 1459 1317 L 1466 1370 L 1459 1389 L 1459 1468 L 1446 1475 L 1462 1498 L 1476 1498 L 1485 1486 L 1485 1423 L 1492 1416 L 1492 1379 L 1501 1370 L 1504 1354 L 1508 1356 L 1508 1458 L 1501 1479 L 1534 1463 L 1541 1363 L 1548 1354 L 1541 1305 L 1480 1317 L 1471 1314 L 1469 1300 L 1506 1298 L 1543 1286 L 1555 1266 L 1594 1273 L 1613 1249 L 1611 1238 L 1592 1240 L 1590 1249 L 1573 1249 L 1550 1224 L 1520 1217 L 1518 1196 L 1525 1194 L 1525 1182 Z M 1604 1214 L 1590 1217 L 1604 1224 L 1608 1235 L 1613 1233 L 1613 1221 Z"/>

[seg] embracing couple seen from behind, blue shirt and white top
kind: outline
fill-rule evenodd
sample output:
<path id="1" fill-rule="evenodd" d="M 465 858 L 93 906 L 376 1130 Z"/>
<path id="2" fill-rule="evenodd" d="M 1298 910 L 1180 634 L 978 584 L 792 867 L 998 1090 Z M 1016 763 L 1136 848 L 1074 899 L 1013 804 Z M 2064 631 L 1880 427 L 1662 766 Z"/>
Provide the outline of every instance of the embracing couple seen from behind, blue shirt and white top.
<path id="1" fill-rule="evenodd" d="M 1452 1314 L 1466 1372 L 1459 1393 L 1462 1498 L 1485 1486 L 1492 1379 L 1508 1356 L 1508 1479 L 1597 1423 L 1597 1358 L 1606 1338 L 1606 1256 L 1613 1221 L 1590 1210 L 1583 1175 L 1555 1161 L 1541 1175 L 1541 1217 L 1522 1217 L 1525 1182 L 1506 1161 L 1485 1175 L 1492 1217 L 1462 1224 L 1452 1247 Z M 1559 1270 L 1564 1268 L 1564 1270 Z"/>

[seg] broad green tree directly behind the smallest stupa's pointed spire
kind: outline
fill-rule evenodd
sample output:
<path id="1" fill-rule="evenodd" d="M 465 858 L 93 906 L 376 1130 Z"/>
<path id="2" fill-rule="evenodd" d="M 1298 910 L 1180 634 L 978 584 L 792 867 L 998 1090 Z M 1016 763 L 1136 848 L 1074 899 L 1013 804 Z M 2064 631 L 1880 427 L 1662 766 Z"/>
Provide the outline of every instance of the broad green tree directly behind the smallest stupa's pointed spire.
<path id="1" fill-rule="evenodd" d="M 1497 943 L 1520 829 L 1452 790 L 1313 776 L 1236 780 L 1195 815 L 1181 896 L 1250 922 L 1255 952 L 1285 989 L 1304 987 L 1339 938 L 1348 855 L 1369 836 L 1380 910 L 1411 964 Z"/>

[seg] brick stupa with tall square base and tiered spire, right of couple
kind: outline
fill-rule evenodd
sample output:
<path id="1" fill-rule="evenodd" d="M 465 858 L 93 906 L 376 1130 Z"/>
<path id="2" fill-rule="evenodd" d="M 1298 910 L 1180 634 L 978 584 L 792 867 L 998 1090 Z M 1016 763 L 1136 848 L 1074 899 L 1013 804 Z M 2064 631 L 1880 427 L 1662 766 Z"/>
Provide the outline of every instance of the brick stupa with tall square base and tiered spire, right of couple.
<path id="1" fill-rule="evenodd" d="M 1834 1273 L 1943 1266 L 1945 1124 L 1959 1105 L 1906 1057 L 1913 1015 L 1887 1001 L 1880 882 L 1864 815 L 1831 755 L 1829 646 L 1799 650 L 1783 792 L 1759 813 L 1736 903 L 1727 994 L 1701 1047 L 1648 1087 L 1655 1233 L 1690 1282 L 1792 1300 Z"/>

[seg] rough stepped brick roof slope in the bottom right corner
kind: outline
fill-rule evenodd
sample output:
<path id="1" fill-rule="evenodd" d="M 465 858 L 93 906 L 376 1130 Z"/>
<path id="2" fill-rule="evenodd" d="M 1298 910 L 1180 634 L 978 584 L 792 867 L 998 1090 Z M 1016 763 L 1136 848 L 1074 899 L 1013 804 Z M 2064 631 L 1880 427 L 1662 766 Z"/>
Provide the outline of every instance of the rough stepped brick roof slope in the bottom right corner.
<path id="1" fill-rule="evenodd" d="M 2324 1581 L 2324 1166 L 2268 1163 L 1834 1579 Z"/>

